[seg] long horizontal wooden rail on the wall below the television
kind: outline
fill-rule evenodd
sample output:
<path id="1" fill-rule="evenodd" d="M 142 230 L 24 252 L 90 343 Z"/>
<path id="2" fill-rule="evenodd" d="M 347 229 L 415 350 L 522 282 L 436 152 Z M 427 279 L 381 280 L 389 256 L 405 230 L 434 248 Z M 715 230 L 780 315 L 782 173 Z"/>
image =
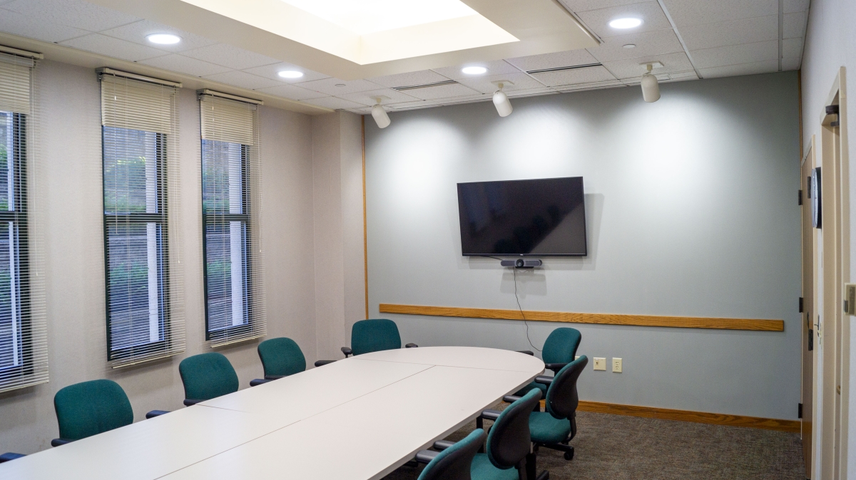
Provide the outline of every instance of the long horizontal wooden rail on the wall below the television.
<path id="1" fill-rule="evenodd" d="M 722 330 L 784 331 L 784 320 L 712 319 L 702 317 L 665 317 L 659 315 L 623 315 L 617 313 L 567 313 L 493 308 L 422 307 L 418 305 L 380 304 L 380 313 L 426 315 L 431 317 L 462 317 L 467 319 L 532 320 L 566 322 L 571 324 L 665 326 L 679 328 L 708 328 Z"/>

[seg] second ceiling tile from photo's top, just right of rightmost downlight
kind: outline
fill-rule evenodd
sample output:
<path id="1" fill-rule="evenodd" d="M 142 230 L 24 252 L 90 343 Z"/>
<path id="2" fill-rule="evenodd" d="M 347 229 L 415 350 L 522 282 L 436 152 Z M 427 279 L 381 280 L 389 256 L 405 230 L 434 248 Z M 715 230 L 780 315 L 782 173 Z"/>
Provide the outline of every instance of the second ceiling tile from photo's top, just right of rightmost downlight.
<path id="1" fill-rule="evenodd" d="M 681 37 L 689 50 L 777 40 L 779 15 L 683 26 Z"/>

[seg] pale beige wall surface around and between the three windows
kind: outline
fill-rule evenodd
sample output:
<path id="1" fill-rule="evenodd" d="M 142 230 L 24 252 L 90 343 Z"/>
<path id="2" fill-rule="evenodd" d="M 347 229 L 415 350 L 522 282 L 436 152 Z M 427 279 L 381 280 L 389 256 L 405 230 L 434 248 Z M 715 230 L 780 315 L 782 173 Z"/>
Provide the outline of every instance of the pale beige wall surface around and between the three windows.
<path id="1" fill-rule="evenodd" d="M 199 107 L 179 96 L 181 231 L 185 262 L 187 352 L 169 360 L 110 370 L 104 323 L 104 243 L 100 97 L 95 72 L 53 61 L 37 70 L 39 142 L 45 194 L 45 274 L 50 383 L 0 395 L 0 451 L 50 448 L 58 430 L 53 395 L 71 383 L 110 378 L 122 385 L 136 420 L 152 409 L 182 408 L 178 363 L 205 346 L 202 303 Z M 262 242 L 269 337 L 292 337 L 316 360 L 312 232 L 312 122 L 260 108 Z M 256 342 L 220 348 L 247 388 L 262 375 Z"/>

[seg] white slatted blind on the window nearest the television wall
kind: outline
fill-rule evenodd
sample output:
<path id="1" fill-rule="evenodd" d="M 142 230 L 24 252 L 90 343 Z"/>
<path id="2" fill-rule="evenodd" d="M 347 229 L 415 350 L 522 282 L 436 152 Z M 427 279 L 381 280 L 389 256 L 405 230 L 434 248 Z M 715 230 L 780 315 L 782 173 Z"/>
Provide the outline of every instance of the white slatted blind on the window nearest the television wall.
<path id="1" fill-rule="evenodd" d="M 205 339 L 212 347 L 264 337 L 259 231 L 259 114 L 253 101 L 199 95 Z"/>

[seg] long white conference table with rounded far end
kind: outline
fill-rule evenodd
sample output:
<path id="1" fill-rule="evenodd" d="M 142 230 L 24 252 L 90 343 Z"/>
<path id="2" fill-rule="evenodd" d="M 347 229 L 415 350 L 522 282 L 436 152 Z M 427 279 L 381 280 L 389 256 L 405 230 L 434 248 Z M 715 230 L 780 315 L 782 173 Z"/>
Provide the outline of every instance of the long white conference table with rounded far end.
<path id="1" fill-rule="evenodd" d="M 495 348 L 363 354 L 0 464 L 0 478 L 383 478 L 542 372 Z"/>

